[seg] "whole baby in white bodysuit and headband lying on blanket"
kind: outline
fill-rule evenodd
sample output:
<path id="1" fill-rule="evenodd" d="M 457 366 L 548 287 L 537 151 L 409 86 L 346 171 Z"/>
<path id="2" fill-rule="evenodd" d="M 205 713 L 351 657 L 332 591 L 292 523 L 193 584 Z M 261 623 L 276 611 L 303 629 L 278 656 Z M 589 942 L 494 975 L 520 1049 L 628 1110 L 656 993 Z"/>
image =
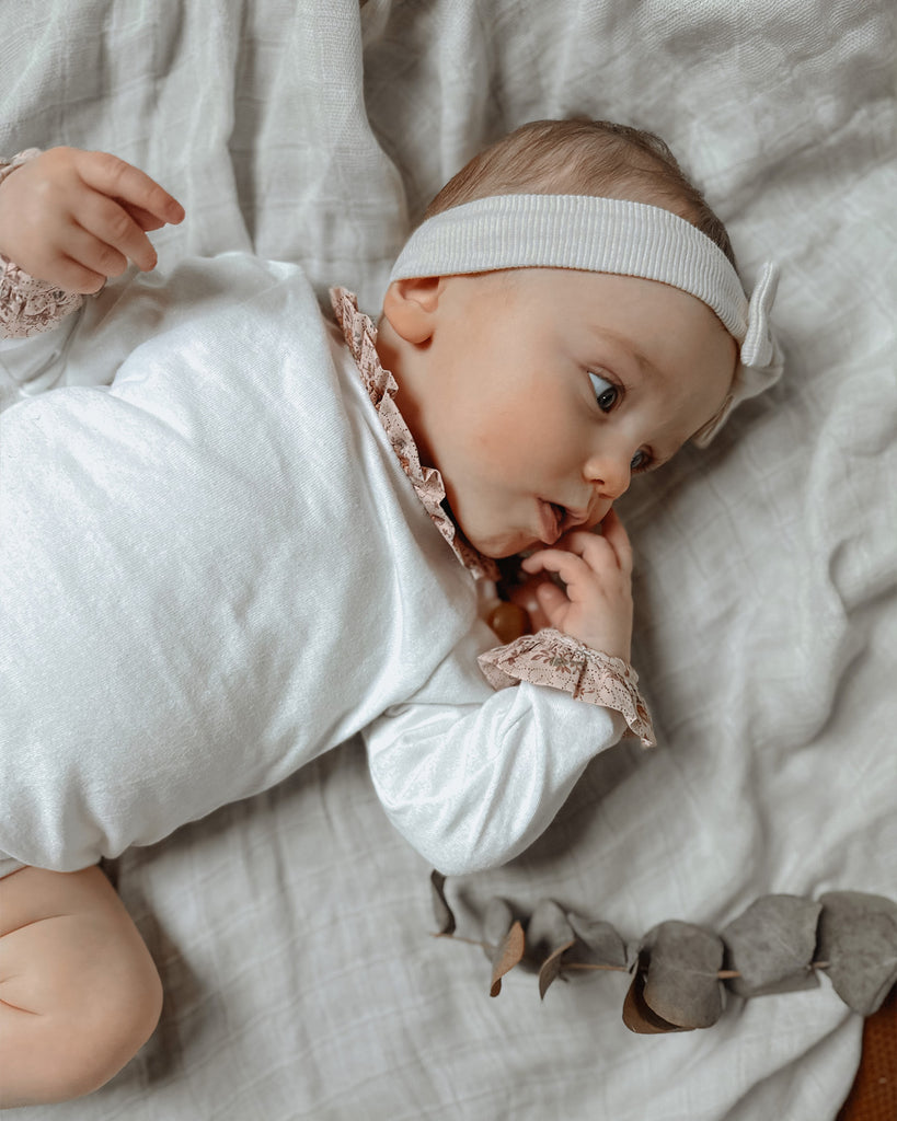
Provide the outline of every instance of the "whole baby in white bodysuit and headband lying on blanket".
<path id="1" fill-rule="evenodd" d="M 21 387 L 0 418 L 13 1105 L 96 1088 L 159 1016 L 101 858 L 360 732 L 397 828 L 469 872 L 627 730 L 651 743 L 613 503 L 779 361 L 775 270 L 748 300 L 668 149 L 620 126 L 534 122 L 478 156 L 377 325 L 239 253 L 103 288 L 152 269 L 176 201 L 99 152 L 0 175 L 0 323 L 57 340 L 37 373 L 30 344 L 0 351 Z M 501 643 L 478 584 L 518 554 L 536 632 Z"/>

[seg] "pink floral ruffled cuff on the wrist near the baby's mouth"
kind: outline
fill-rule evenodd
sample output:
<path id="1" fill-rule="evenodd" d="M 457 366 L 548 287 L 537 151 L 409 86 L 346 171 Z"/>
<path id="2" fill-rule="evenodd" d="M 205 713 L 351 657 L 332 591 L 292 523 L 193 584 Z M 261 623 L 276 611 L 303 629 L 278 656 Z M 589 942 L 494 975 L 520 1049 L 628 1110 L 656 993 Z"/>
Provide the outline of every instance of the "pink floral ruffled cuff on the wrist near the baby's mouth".
<path id="1" fill-rule="evenodd" d="M 638 675 L 621 658 L 592 650 L 568 634 L 545 628 L 487 650 L 478 661 L 492 688 L 529 682 L 563 689 L 575 701 L 621 713 L 642 747 L 650 748 L 657 742 L 648 707 L 638 692 Z"/>

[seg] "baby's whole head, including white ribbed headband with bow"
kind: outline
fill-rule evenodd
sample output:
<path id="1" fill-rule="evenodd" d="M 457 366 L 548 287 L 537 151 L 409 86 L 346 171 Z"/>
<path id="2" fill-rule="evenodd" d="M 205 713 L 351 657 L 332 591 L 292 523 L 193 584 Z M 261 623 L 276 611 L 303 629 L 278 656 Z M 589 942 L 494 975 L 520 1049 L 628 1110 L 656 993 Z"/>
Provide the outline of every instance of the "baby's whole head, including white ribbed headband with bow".
<path id="1" fill-rule="evenodd" d="M 462 532 L 502 557 L 598 525 L 632 474 L 773 380 L 773 289 L 769 272 L 749 314 L 725 230 L 663 141 L 537 121 L 431 203 L 378 350 Z"/>

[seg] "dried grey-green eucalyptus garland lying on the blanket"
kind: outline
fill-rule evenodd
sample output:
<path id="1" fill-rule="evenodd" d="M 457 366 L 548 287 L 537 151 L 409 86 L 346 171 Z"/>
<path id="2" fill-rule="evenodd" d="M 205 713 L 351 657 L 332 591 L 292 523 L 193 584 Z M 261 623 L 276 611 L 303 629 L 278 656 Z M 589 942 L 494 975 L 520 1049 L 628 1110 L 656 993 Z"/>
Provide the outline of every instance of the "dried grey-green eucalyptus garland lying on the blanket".
<path id="1" fill-rule="evenodd" d="M 639 1034 L 711 1027 L 725 989 L 742 998 L 794 992 L 819 985 L 825 971 L 849 1008 L 871 1016 L 897 983 L 897 902 L 884 896 L 761 896 L 719 934 L 671 919 L 629 944 L 604 919 L 552 899 L 527 915 L 499 897 L 487 905 L 482 939 L 461 938 L 445 877 L 434 871 L 431 888 L 436 936 L 482 946 L 492 965 L 491 997 L 517 965 L 537 972 L 542 999 L 558 978 L 629 973 L 622 1018 Z"/>

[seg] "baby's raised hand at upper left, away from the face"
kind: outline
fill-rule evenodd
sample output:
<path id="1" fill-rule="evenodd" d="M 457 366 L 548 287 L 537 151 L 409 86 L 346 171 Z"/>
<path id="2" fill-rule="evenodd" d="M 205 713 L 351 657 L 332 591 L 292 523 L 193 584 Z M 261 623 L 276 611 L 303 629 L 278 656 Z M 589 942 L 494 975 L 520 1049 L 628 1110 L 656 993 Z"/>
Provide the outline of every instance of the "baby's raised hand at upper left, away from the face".
<path id="1" fill-rule="evenodd" d="M 66 291 L 99 291 L 128 259 L 154 268 L 146 231 L 183 220 L 158 183 L 104 151 L 50 148 L 0 184 L 0 253 Z"/>

